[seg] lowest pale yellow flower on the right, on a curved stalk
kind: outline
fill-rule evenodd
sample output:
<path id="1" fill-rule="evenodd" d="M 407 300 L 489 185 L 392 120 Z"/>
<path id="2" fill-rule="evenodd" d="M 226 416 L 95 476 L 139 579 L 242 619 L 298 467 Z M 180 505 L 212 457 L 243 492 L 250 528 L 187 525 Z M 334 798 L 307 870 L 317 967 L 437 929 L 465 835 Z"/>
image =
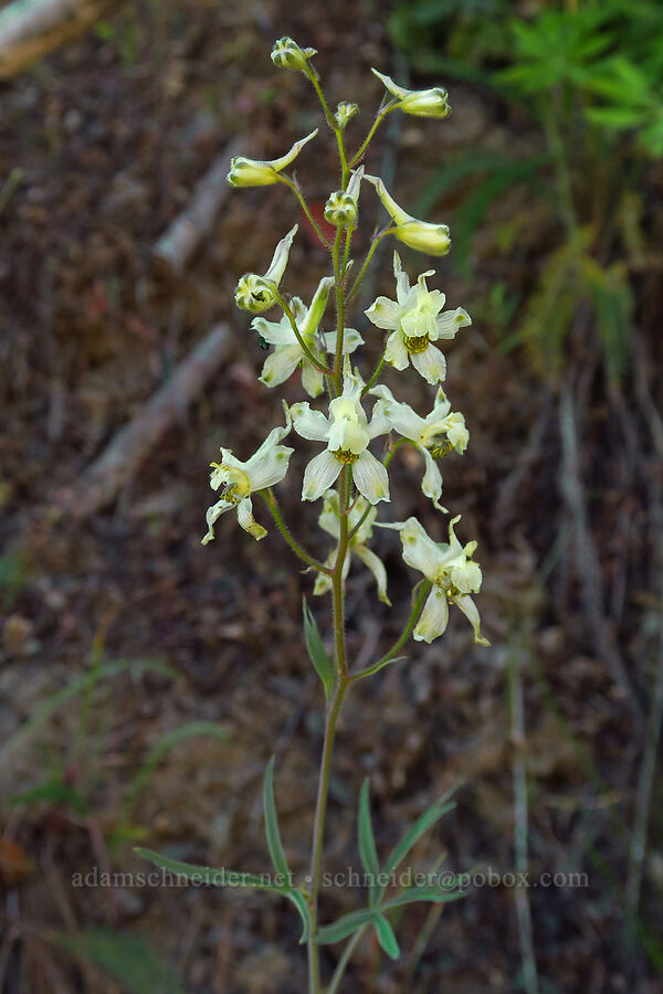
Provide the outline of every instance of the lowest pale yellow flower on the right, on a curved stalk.
<path id="1" fill-rule="evenodd" d="M 474 641 L 480 645 L 490 645 L 481 634 L 478 610 L 470 596 L 471 593 L 478 593 L 482 581 L 481 567 L 472 561 L 476 542 L 461 546 L 453 530 L 459 520 L 460 516 L 450 521 L 449 543 L 434 542 L 417 518 L 380 527 L 400 531 L 404 561 L 433 584 L 414 627 L 414 639 L 432 642 L 446 631 L 451 602 L 461 609 L 472 625 Z"/>

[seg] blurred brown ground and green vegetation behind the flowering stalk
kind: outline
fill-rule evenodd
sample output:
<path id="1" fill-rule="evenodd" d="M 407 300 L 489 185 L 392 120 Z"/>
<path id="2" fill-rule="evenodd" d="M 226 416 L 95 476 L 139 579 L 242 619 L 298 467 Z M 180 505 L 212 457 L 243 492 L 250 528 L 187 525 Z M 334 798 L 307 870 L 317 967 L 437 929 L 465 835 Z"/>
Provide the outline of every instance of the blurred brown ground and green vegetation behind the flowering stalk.
<path id="1" fill-rule="evenodd" d="M 449 355 L 445 387 L 471 445 L 444 464 L 444 499 L 463 512 L 463 537 L 480 539 L 492 648 L 451 626 L 350 697 L 329 867 L 354 865 L 368 773 L 380 848 L 463 782 L 418 867 L 444 849 L 456 871 L 588 876 L 587 887 L 477 888 L 428 917 L 407 909 L 393 923 L 408 953 L 386 965 L 367 940 L 348 990 L 654 994 L 656 0 L 337 0 L 297 12 L 282 0 L 117 2 L 0 81 L 0 991 L 304 988 L 303 960 L 288 960 L 296 916 L 278 901 L 72 882 L 93 867 L 146 870 L 137 843 L 266 869 L 257 799 L 272 752 L 291 865 L 305 864 L 322 732 L 299 631 L 308 579 L 276 537 L 250 543 L 231 521 L 199 544 L 218 446 L 250 453 L 280 417 L 256 383 L 264 356 L 232 290 L 269 261 L 296 207 L 280 190 L 240 191 L 183 261 L 162 251 L 232 141 L 271 158 L 319 123 L 305 81 L 270 62 L 282 34 L 318 49 L 333 103 L 358 99 L 357 142 L 381 95 L 371 65 L 450 91 L 448 121 L 393 119 L 369 162 L 411 213 L 450 224 L 435 279 L 474 319 Z M 323 161 L 303 156 L 298 172 L 320 205 L 335 183 L 322 179 L 329 136 L 318 149 Z M 362 209 L 378 215 L 367 193 Z M 288 289 L 306 297 L 324 254 L 304 224 L 298 241 Z M 424 262 L 407 257 L 412 274 Z M 372 290 L 390 288 L 388 251 Z M 218 322 L 232 345 L 213 376 L 92 499 L 91 465 L 123 427 L 139 434 L 146 403 Z M 425 389 L 411 389 L 424 410 Z M 120 435 L 116 451 L 135 438 Z M 434 529 L 418 472 L 401 463 L 397 506 Z M 302 510 L 291 476 L 283 506 L 303 530 L 316 509 Z M 409 596 L 404 567 L 380 541 L 397 611 L 385 614 L 352 573 L 357 659 L 392 641 Z M 325 630 L 328 605 L 313 606 Z M 325 892 L 323 916 L 356 902 L 351 889 Z"/>

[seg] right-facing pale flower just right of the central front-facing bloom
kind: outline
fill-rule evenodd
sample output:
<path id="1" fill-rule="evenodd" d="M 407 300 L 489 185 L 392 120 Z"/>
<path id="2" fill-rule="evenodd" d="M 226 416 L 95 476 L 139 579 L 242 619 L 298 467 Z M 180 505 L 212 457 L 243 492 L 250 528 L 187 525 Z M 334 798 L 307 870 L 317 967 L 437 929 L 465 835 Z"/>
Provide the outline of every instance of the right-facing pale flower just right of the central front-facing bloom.
<path id="1" fill-rule="evenodd" d="M 445 511 L 440 505 L 442 496 L 442 476 L 435 459 L 455 450 L 464 452 L 470 441 L 465 427 L 465 419 L 459 412 L 452 412 L 451 404 L 440 387 L 433 410 L 421 417 L 409 404 L 397 401 L 388 387 L 380 384 L 369 391 L 379 398 L 376 411 L 387 417 L 391 427 L 417 446 L 425 463 L 425 474 L 421 480 L 421 489 L 433 501 L 433 507 Z"/>

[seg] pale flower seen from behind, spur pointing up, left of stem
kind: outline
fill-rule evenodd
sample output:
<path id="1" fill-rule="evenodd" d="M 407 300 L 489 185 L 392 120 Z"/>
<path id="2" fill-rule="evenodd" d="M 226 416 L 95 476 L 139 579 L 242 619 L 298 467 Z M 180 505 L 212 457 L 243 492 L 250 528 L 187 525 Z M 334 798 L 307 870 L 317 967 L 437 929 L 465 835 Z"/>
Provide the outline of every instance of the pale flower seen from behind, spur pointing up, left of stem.
<path id="1" fill-rule="evenodd" d="M 317 335 L 318 325 L 323 319 L 329 290 L 334 286 L 332 276 L 320 279 L 314 294 L 311 306 L 307 308 L 299 297 L 293 297 L 290 307 L 295 318 L 295 324 L 309 352 L 314 356 L 319 346 L 327 352 L 336 352 L 336 331 L 326 335 Z M 275 346 L 274 352 L 269 357 L 261 376 L 261 382 L 265 387 L 277 387 L 293 374 L 295 369 L 302 369 L 302 387 L 309 396 L 319 396 L 325 389 L 325 379 L 319 369 L 313 364 L 297 339 L 290 319 L 284 315 L 280 321 L 267 321 L 264 318 L 254 318 L 251 322 L 265 341 Z M 357 346 L 364 345 L 364 339 L 354 328 L 346 328 L 343 337 L 344 355 L 355 351 Z"/>

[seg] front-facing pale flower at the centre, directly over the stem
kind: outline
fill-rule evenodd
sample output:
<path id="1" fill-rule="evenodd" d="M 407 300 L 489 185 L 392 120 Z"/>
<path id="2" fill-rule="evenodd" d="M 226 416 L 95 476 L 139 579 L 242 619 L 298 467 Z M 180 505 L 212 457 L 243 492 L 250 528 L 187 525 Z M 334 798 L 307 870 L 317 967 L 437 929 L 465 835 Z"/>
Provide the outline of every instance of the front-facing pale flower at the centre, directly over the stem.
<path id="1" fill-rule="evenodd" d="M 349 360 L 346 360 L 349 362 Z M 385 466 L 368 451 L 369 442 L 389 431 L 383 415 L 373 414 L 369 424 L 361 406 L 364 380 L 346 368 L 343 393 L 329 402 L 329 416 L 312 411 L 307 401 L 293 404 L 293 426 L 303 438 L 326 442 L 327 447 L 306 467 L 302 500 L 317 500 L 349 466 L 355 486 L 369 504 L 389 500 L 389 478 Z"/>

